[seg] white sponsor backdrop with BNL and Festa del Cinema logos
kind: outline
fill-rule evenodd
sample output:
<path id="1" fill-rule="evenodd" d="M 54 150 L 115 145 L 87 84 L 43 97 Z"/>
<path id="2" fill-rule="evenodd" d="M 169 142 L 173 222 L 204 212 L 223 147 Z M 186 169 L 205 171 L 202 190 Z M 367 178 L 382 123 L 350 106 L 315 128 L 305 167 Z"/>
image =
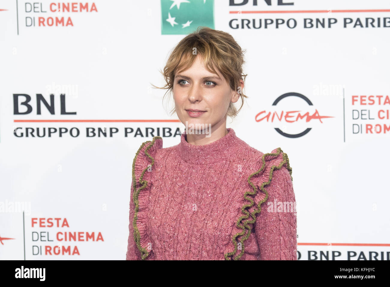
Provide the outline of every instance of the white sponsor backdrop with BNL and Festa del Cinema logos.
<path id="1" fill-rule="evenodd" d="M 1 259 L 126 258 L 135 153 L 184 132 L 152 84 L 199 26 L 246 50 L 249 98 L 227 127 L 288 154 L 298 259 L 390 259 L 381 0 L 1 1 Z"/>

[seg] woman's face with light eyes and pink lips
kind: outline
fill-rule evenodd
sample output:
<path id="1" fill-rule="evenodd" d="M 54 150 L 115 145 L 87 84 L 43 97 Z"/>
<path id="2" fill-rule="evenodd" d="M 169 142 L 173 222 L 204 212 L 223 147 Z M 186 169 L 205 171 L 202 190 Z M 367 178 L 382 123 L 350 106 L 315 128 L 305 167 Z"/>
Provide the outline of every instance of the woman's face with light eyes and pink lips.
<path id="1" fill-rule="evenodd" d="M 237 102 L 239 94 L 230 89 L 227 80 L 209 72 L 202 57 L 197 55 L 193 65 L 185 71 L 176 73 L 173 97 L 176 113 L 186 125 L 204 124 L 206 127 L 226 127 L 226 113 L 230 102 Z M 243 86 L 243 81 L 242 81 Z M 202 112 L 189 112 L 188 109 Z"/>

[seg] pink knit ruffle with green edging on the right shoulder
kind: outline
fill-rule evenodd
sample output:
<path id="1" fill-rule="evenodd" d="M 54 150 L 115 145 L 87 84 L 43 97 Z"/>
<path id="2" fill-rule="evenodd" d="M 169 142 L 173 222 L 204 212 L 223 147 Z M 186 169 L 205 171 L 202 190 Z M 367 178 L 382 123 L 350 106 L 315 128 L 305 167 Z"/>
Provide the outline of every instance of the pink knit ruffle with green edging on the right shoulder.
<path id="1" fill-rule="evenodd" d="M 244 198 L 249 203 L 245 203 L 241 208 L 244 215 L 239 217 L 236 225 L 238 228 L 242 229 L 242 231 L 233 236 L 232 242 L 234 244 L 234 251 L 225 253 L 225 260 L 231 260 L 230 257 L 236 255 L 238 242 L 241 243 L 241 252 L 233 259 L 238 260 L 244 254 L 244 242 L 249 238 L 252 231 L 252 226 L 249 224 L 254 224 L 256 222 L 256 214 L 261 212 L 261 204 L 268 199 L 268 192 L 264 186 L 271 183 L 273 171 L 275 169 L 281 169 L 282 166 L 287 168 L 291 176 L 292 168 L 290 167 L 287 154 L 284 153 L 281 148 L 275 148 L 271 153 L 264 153 L 262 155 L 261 168 L 248 176 L 248 184 L 252 187 L 253 191 L 246 191 L 244 193 Z M 251 181 L 252 177 L 255 178 L 256 184 Z M 293 180 L 292 176 L 291 180 Z M 257 187 L 259 187 L 262 192 L 257 192 Z M 249 215 L 252 219 L 249 219 Z M 236 239 L 237 237 L 239 237 L 239 241 Z"/>

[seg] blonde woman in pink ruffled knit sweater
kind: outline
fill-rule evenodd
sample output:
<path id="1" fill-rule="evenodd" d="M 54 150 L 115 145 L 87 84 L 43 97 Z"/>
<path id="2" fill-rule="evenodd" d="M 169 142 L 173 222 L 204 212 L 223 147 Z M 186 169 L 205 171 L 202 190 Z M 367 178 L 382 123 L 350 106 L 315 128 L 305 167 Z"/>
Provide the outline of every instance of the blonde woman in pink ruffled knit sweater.
<path id="1" fill-rule="evenodd" d="M 226 128 L 247 97 L 243 62 L 230 34 L 207 27 L 172 51 L 163 88 L 189 128 L 176 146 L 156 136 L 135 155 L 126 260 L 297 259 L 287 154 L 259 152 Z"/>

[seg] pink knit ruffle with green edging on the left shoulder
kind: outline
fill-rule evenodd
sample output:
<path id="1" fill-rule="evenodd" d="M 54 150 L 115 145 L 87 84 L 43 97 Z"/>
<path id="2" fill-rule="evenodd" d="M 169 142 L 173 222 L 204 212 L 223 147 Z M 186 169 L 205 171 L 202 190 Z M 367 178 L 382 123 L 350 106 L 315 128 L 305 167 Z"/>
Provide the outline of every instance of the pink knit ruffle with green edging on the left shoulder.
<path id="1" fill-rule="evenodd" d="M 144 260 L 150 254 L 151 247 L 147 235 L 147 212 L 149 210 L 149 191 L 151 187 L 151 168 L 154 164 L 156 150 L 163 146 L 161 137 L 153 137 L 152 141 L 142 143 L 133 160 L 133 201 L 135 213 L 133 219 L 134 240 L 141 259 Z M 142 191 L 142 192 L 141 192 Z"/>

